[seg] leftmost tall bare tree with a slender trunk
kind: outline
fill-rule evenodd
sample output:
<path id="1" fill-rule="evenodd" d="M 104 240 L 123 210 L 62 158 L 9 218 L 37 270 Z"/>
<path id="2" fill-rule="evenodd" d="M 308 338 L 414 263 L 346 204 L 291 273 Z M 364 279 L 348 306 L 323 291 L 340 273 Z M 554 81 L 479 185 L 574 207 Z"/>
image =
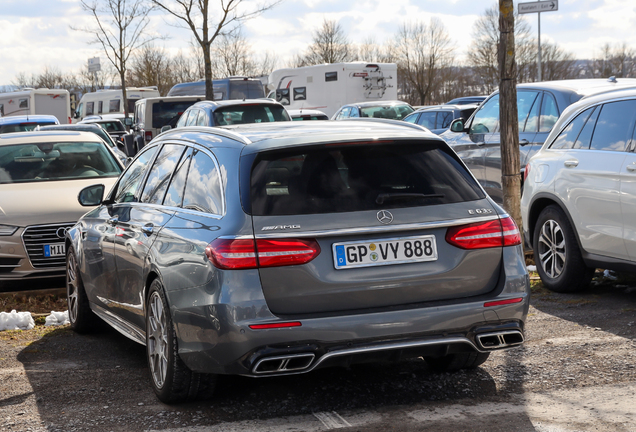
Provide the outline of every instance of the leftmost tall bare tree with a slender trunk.
<path id="1" fill-rule="evenodd" d="M 90 43 L 102 46 L 108 61 L 119 73 L 124 113 L 128 117 L 128 60 L 135 50 L 160 38 L 146 33 L 150 23 L 148 15 L 153 7 L 146 0 L 81 0 L 80 4 L 93 16 L 95 26 L 71 28 L 90 34 L 93 37 Z"/>

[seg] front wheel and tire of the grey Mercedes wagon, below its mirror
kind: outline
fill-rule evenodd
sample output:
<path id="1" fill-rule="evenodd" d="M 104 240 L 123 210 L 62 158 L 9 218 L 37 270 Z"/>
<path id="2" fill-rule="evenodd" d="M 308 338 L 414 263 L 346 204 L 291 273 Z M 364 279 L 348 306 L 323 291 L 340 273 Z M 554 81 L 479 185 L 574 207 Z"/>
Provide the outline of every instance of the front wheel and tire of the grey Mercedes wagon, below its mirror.
<path id="1" fill-rule="evenodd" d="M 73 246 L 69 246 L 66 251 L 66 301 L 71 329 L 85 334 L 98 327 L 99 320 L 88 304 Z"/>

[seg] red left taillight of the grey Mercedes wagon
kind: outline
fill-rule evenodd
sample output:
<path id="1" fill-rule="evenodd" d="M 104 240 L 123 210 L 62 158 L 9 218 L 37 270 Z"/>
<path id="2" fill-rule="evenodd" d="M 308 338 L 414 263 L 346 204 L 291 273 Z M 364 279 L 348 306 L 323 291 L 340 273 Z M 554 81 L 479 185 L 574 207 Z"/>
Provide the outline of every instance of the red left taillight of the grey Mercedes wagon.
<path id="1" fill-rule="evenodd" d="M 226 270 L 306 264 L 320 254 L 313 239 L 216 239 L 205 249 L 215 267 Z"/>

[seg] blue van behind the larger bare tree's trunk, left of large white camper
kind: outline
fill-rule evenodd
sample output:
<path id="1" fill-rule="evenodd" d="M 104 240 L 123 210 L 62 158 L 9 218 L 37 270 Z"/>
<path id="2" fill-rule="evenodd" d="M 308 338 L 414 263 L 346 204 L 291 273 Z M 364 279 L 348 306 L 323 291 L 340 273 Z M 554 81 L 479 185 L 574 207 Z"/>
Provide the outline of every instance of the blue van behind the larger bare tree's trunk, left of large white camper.
<path id="1" fill-rule="evenodd" d="M 229 77 L 212 81 L 214 100 L 259 99 L 265 97 L 263 83 L 259 79 Z M 205 96 L 205 80 L 176 84 L 168 96 Z"/>

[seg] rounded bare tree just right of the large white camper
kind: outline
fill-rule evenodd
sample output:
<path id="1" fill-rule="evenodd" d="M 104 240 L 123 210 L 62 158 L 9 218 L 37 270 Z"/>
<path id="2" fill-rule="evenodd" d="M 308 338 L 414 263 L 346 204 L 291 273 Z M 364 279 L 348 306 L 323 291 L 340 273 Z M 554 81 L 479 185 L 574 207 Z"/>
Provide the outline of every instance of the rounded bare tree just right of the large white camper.
<path id="1" fill-rule="evenodd" d="M 398 70 L 410 87 L 412 102 L 424 105 L 434 102 L 436 89 L 443 86 L 448 75 L 441 73 L 452 63 L 454 47 L 442 22 L 431 18 L 423 22 L 404 24 L 396 40 Z"/>

